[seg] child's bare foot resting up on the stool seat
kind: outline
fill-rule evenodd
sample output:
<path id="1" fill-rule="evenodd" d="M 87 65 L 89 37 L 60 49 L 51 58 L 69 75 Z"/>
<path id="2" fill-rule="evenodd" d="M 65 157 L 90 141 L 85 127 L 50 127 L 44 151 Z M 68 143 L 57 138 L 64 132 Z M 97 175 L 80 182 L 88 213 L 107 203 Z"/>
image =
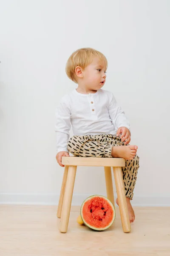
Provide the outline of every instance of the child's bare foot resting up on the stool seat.
<path id="1" fill-rule="evenodd" d="M 113 146 L 112 148 L 112 157 L 133 159 L 136 155 L 138 147 L 136 145 L 128 146 Z"/>

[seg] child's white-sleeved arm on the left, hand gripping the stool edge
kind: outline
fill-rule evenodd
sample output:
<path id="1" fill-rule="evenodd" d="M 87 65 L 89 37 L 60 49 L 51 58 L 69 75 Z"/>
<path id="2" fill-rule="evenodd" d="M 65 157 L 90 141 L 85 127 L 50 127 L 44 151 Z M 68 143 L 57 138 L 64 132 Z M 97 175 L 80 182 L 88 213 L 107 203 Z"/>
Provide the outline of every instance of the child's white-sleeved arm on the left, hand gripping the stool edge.
<path id="1" fill-rule="evenodd" d="M 56 159 L 60 166 L 64 167 L 61 163 L 62 156 L 69 156 L 67 149 L 67 142 L 69 139 L 69 131 L 71 128 L 71 111 L 68 101 L 62 99 L 56 111 Z"/>

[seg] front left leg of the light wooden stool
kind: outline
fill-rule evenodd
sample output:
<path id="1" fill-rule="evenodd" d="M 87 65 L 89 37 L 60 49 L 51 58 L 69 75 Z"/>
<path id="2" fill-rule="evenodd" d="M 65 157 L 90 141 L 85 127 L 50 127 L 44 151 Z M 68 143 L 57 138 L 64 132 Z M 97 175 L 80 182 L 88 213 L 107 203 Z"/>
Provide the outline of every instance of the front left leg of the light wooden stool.
<path id="1" fill-rule="evenodd" d="M 70 216 L 71 201 L 73 197 L 74 182 L 76 177 L 77 166 L 68 166 L 67 182 L 61 212 L 61 221 L 59 231 L 66 233 L 68 229 L 68 221 Z"/>

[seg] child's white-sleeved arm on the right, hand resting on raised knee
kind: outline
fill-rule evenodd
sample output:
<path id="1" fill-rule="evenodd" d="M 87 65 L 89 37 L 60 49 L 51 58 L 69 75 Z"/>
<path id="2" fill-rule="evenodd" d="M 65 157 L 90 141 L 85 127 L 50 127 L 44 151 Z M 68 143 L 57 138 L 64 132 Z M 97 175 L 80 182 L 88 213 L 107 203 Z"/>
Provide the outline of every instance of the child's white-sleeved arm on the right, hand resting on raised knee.
<path id="1" fill-rule="evenodd" d="M 125 144 L 130 143 L 130 124 L 125 116 L 125 112 L 122 110 L 122 108 L 117 104 L 115 97 L 113 96 L 113 93 L 110 97 L 109 102 L 109 115 L 112 119 L 112 122 L 115 125 L 115 128 L 117 129 L 116 136 L 121 135 L 121 140 L 125 141 Z"/>

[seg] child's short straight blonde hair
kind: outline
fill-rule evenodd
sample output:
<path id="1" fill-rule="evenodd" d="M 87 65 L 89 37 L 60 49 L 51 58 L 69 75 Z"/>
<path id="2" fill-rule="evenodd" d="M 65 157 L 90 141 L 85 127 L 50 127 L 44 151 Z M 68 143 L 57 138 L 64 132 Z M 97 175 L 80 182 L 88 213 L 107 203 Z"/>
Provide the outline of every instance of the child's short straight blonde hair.
<path id="1" fill-rule="evenodd" d="M 93 61 L 94 57 L 99 57 L 99 62 L 102 64 L 103 62 L 106 65 L 106 69 L 108 68 L 108 61 L 101 52 L 96 51 L 93 48 L 81 48 L 76 50 L 71 54 L 68 58 L 68 61 L 65 66 L 65 72 L 69 79 L 77 83 L 75 69 L 77 66 L 82 67 L 84 69 Z"/>

